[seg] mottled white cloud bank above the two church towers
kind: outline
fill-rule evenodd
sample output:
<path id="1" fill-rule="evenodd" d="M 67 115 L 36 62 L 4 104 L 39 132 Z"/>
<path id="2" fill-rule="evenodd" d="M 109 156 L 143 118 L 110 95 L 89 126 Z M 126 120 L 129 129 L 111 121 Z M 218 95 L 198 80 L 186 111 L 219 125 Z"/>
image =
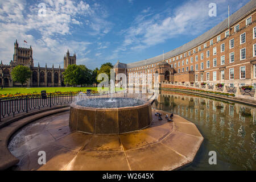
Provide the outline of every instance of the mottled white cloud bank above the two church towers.
<path id="1" fill-rule="evenodd" d="M 46 16 L 39 16 L 39 3 L 45 3 Z M 77 59 L 88 60 L 90 42 L 68 40 L 73 26 L 89 26 L 94 35 L 105 35 L 111 25 L 84 1 L 45 0 L 31 5 L 25 0 L 8 0 L 0 2 L 0 54 L 3 63 L 13 60 L 15 39 L 23 47 L 23 40 L 32 46 L 34 64 L 55 63 L 63 65 L 63 56 L 67 49 L 76 51 Z M 106 16 L 106 13 L 104 14 Z M 86 18 L 82 22 L 81 17 Z M 96 24 L 96 25 L 94 25 Z M 88 30 L 89 31 L 89 30 Z"/>

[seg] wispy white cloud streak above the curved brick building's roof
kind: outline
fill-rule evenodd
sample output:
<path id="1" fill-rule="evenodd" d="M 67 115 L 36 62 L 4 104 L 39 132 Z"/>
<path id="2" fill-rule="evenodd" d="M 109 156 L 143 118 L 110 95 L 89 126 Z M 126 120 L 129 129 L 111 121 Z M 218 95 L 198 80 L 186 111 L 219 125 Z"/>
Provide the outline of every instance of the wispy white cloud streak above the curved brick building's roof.
<path id="1" fill-rule="evenodd" d="M 218 10 L 224 9 L 225 0 L 218 1 Z M 142 10 L 129 28 L 122 31 L 125 39 L 120 51 L 140 51 L 156 44 L 164 43 L 177 36 L 200 35 L 208 27 L 220 22 L 225 14 L 218 14 L 214 19 L 209 19 L 209 2 L 205 0 L 191 0 L 183 3 L 176 9 L 168 8 L 160 13 L 155 13 L 150 7 Z M 223 12 L 223 11 L 220 11 Z"/>

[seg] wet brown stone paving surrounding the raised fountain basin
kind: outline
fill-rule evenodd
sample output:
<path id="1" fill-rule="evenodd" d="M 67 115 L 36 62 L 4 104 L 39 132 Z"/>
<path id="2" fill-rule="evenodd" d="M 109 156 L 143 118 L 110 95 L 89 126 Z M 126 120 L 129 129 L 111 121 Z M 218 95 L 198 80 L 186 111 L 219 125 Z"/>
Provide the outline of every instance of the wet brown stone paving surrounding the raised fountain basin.
<path id="1" fill-rule="evenodd" d="M 69 129 L 69 111 L 50 115 L 19 130 L 9 143 L 19 159 L 14 170 L 172 170 L 191 163 L 203 142 L 195 124 L 179 115 L 159 121 L 152 111 L 147 129 L 93 135 Z M 168 113 L 170 114 L 170 113 Z M 38 152 L 46 164 L 38 164 Z"/>

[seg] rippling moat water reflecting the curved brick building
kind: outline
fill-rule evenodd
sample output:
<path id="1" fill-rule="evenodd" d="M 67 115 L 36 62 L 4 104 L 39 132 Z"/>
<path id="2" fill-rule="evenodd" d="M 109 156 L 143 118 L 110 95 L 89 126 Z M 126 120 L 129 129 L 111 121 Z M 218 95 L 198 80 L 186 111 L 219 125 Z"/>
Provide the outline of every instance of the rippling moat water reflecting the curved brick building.
<path id="1" fill-rule="evenodd" d="M 193 163 L 182 170 L 256 170 L 255 107 L 161 90 L 152 109 L 179 114 L 204 137 Z M 216 165 L 209 164 L 209 151 L 216 151 Z"/>

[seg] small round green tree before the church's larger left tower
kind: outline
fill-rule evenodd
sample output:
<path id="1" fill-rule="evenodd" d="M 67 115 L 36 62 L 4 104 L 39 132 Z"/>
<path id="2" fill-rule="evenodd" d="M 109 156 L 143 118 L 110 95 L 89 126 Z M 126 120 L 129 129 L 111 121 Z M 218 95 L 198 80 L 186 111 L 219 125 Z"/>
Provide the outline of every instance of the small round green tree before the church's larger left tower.
<path id="1" fill-rule="evenodd" d="M 13 78 L 13 81 L 20 82 L 20 84 L 23 84 L 28 81 L 29 78 L 31 78 L 31 70 L 28 67 L 25 67 L 23 65 L 18 65 L 13 68 L 11 71 L 11 77 Z"/>

